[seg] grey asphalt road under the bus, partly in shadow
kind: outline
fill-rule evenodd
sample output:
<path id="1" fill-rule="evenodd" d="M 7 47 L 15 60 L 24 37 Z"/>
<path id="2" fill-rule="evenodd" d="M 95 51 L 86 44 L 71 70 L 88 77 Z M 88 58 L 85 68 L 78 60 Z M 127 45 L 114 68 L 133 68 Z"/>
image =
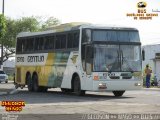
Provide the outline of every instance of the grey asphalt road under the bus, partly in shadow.
<path id="1" fill-rule="evenodd" d="M 0 84 L 0 91 L 13 89 L 12 83 Z M 23 119 L 82 119 L 88 114 L 159 114 L 160 88 L 126 91 L 122 97 L 114 97 L 110 92 L 87 92 L 85 96 L 64 94 L 60 89 L 49 89 L 47 93 L 28 92 L 18 89 L 13 94 L 1 94 L 2 100 L 22 100 L 26 106 L 17 114 Z M 0 113 L 6 114 L 4 107 Z M 7 113 L 8 114 L 8 113 Z M 11 114 L 11 113 L 9 113 Z M 68 115 L 68 117 L 67 117 Z M 42 117 L 45 116 L 45 117 Z M 69 117 L 70 116 L 70 117 Z M 29 117 L 29 118 L 28 118 Z M 0 117 L 1 118 L 1 117 Z"/>

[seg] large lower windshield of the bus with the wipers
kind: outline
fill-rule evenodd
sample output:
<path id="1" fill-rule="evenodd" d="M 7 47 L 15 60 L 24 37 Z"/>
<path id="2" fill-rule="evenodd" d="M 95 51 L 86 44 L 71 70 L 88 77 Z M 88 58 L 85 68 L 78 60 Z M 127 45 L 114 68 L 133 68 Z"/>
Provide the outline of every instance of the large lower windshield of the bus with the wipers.
<path id="1" fill-rule="evenodd" d="M 141 71 L 140 45 L 94 45 L 93 70 Z"/>

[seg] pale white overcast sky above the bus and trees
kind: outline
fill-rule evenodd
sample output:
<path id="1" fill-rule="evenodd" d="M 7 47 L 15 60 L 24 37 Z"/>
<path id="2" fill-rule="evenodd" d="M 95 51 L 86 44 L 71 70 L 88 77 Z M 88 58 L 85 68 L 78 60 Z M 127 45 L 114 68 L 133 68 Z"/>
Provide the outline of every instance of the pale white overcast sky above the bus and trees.
<path id="1" fill-rule="evenodd" d="M 5 16 L 53 16 L 61 23 L 89 22 L 104 25 L 135 27 L 142 45 L 160 43 L 160 0 L 145 0 L 147 13 L 158 10 L 152 20 L 134 20 L 127 13 L 137 13 L 141 0 L 5 0 Z M 144 1 L 144 0 L 143 0 Z M 2 13 L 2 0 L 0 0 Z"/>

